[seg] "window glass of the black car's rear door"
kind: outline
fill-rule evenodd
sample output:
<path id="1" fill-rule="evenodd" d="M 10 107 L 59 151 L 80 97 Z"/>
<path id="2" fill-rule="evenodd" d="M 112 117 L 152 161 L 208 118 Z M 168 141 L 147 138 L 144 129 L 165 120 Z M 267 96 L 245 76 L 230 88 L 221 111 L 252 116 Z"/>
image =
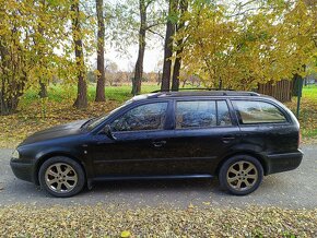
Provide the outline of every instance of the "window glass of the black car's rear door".
<path id="1" fill-rule="evenodd" d="M 225 100 L 193 100 L 176 103 L 176 129 L 231 126 Z"/>

